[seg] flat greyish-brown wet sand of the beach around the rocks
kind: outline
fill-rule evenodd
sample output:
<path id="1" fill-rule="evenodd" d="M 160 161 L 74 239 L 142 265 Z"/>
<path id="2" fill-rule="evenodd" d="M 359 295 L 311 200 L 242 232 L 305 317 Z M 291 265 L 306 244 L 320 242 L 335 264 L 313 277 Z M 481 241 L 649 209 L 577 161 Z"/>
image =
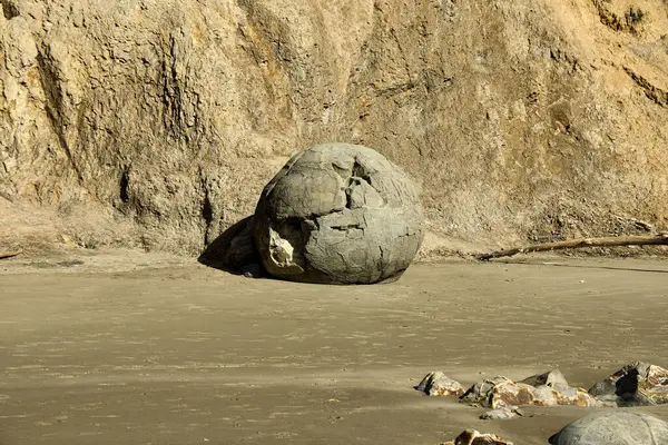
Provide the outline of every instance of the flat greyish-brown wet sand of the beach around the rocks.
<path id="1" fill-rule="evenodd" d="M 412 386 L 559 367 L 589 387 L 631 360 L 668 366 L 668 261 L 531 260 L 416 265 L 364 287 L 196 264 L 6 268 L 0 444 L 435 445 L 470 427 L 547 444 L 588 411 L 485 422 Z"/>

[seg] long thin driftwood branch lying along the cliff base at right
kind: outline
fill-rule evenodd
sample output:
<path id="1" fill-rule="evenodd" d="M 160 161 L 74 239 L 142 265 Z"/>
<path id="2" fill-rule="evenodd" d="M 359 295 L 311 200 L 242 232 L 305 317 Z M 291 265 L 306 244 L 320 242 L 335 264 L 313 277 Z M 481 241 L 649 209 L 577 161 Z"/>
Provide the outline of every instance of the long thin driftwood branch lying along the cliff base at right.
<path id="1" fill-rule="evenodd" d="M 518 254 L 529 254 L 532 251 L 550 251 L 559 249 L 577 249 L 581 247 L 619 247 L 619 246 L 657 246 L 668 245 L 668 233 L 650 236 L 620 236 L 605 238 L 582 238 L 568 241 L 534 244 L 514 249 L 492 251 L 490 254 L 478 255 L 475 258 L 487 261 L 492 258 L 511 257 Z"/>

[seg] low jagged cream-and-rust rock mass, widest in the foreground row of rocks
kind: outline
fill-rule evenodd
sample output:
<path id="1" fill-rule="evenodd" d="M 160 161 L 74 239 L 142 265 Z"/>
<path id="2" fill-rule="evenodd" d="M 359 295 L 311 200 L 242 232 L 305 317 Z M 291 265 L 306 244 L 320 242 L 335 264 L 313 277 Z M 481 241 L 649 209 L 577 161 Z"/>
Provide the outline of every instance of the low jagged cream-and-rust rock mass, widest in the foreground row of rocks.
<path id="1" fill-rule="evenodd" d="M 538 386 L 524 382 L 534 383 Z M 542 382 L 544 384 L 541 384 Z M 477 383 L 466 390 L 461 399 L 492 409 L 515 405 L 601 406 L 601 402 L 588 394 L 587 390 L 568 386 L 568 383 L 558 370 L 531 376 L 519 383 L 498 376 L 493 379 Z"/>

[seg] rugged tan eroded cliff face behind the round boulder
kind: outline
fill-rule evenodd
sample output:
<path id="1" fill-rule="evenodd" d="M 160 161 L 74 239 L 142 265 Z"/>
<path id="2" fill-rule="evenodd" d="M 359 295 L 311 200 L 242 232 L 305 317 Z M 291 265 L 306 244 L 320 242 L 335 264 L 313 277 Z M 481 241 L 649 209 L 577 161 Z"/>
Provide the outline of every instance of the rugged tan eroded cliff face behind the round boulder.
<path id="1" fill-rule="evenodd" d="M 0 243 L 197 253 L 333 140 L 428 250 L 666 227 L 664 0 L 0 3 Z"/>

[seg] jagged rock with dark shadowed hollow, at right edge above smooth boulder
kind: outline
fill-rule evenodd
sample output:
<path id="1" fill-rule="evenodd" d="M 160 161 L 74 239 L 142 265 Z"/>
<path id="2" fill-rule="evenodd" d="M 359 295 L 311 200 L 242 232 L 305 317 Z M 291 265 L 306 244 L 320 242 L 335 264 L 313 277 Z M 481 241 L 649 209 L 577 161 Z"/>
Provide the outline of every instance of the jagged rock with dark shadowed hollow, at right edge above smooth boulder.
<path id="1" fill-rule="evenodd" d="M 668 403 L 668 370 L 642 362 L 631 363 L 589 389 L 597 398 L 618 406 Z"/>

